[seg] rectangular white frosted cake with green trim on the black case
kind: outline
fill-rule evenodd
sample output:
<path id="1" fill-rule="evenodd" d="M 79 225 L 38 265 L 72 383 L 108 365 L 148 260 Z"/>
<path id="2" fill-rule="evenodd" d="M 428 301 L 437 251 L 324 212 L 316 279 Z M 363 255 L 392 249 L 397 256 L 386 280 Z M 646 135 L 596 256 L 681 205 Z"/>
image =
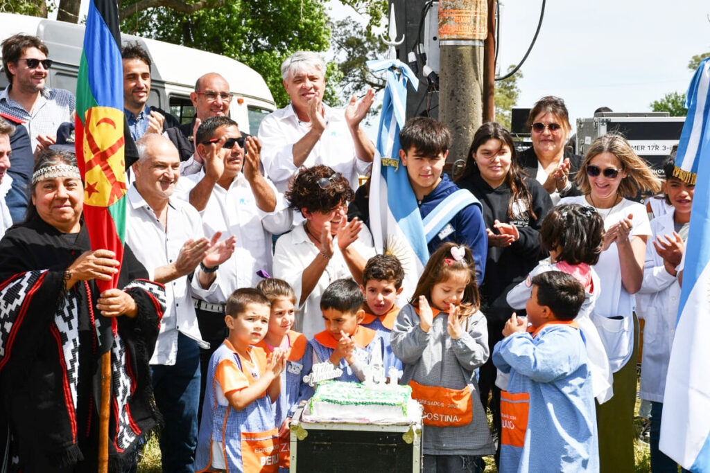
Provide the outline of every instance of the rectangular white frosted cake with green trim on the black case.
<path id="1" fill-rule="evenodd" d="M 308 401 L 304 420 L 356 423 L 409 423 L 422 408 L 412 399 L 410 386 L 324 381 Z"/>

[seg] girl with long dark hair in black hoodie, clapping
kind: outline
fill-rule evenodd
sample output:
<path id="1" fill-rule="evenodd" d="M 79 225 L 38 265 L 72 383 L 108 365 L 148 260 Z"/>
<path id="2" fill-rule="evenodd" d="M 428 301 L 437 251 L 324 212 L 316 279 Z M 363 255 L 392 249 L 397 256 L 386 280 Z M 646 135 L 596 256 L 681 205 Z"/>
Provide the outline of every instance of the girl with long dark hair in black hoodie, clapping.
<path id="1" fill-rule="evenodd" d="M 480 286 L 481 311 L 486 314 L 492 350 L 503 339 L 503 328 L 513 313 L 506 301 L 508 291 L 545 257 L 538 235 L 552 202 L 545 189 L 520 169 L 513 137 L 498 123 L 484 123 L 476 131 L 457 184 L 471 191 L 484 208 L 488 255 Z M 481 402 L 488 406 L 488 394 L 493 395 L 493 423 L 500 432 L 501 390 L 495 385 L 496 367 L 491 360 L 481 367 L 479 376 Z"/>

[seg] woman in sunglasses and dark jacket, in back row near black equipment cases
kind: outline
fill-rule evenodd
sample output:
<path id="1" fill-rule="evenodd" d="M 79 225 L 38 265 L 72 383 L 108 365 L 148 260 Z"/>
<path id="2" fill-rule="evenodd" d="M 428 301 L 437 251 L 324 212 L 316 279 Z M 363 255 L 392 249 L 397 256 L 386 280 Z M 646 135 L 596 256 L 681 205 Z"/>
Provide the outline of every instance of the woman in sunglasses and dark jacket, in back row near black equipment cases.
<path id="1" fill-rule="evenodd" d="M 581 157 L 564 146 L 572 130 L 564 100 L 542 97 L 530 108 L 528 126 L 532 146 L 520 153 L 520 167 L 542 184 L 552 204 L 565 196 L 578 196 L 574 176 L 581 166 Z"/>

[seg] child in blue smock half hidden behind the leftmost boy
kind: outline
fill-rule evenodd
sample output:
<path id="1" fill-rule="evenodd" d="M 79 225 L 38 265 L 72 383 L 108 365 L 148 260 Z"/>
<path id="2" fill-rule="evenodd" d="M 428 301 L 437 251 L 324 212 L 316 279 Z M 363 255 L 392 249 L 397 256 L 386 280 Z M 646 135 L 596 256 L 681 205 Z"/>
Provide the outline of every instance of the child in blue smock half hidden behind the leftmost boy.
<path id="1" fill-rule="evenodd" d="M 293 288 L 283 279 L 263 279 L 256 285 L 266 299 L 271 301 L 271 318 L 268 321 L 266 337 L 256 346 L 267 353 L 276 348 L 286 357 L 286 369 L 281 372 L 281 394 L 274 403 L 276 426 L 280 440 L 280 470 L 288 471 L 290 464 L 289 425 L 297 406 L 298 390 L 301 386 L 301 372 L 305 364 L 308 340 L 305 335 L 291 330 L 295 318 L 296 296 Z"/>

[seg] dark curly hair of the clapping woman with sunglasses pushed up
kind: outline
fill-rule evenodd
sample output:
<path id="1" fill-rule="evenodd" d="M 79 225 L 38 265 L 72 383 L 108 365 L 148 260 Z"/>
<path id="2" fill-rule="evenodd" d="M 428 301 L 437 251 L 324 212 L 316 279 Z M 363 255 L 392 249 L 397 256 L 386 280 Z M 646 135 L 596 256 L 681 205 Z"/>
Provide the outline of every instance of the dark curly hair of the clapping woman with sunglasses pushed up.
<path id="1" fill-rule="evenodd" d="M 329 184 L 323 189 L 318 182 L 326 179 Z M 301 211 L 328 213 L 334 208 L 350 202 L 355 193 L 345 177 L 327 166 L 303 167 L 288 184 L 286 199 L 291 208 Z"/>

